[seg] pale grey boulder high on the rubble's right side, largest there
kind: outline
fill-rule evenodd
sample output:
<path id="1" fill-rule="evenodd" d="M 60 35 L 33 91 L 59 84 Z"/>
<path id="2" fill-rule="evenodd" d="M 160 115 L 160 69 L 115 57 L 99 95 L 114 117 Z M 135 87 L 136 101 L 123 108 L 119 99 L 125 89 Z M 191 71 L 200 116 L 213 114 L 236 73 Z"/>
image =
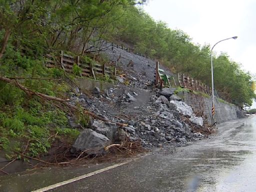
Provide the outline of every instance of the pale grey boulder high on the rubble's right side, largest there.
<path id="1" fill-rule="evenodd" d="M 169 108 L 177 110 L 180 114 L 182 114 L 184 116 L 188 116 L 188 117 L 193 116 L 193 110 L 192 110 L 191 106 L 188 106 L 183 101 L 170 100 Z"/>

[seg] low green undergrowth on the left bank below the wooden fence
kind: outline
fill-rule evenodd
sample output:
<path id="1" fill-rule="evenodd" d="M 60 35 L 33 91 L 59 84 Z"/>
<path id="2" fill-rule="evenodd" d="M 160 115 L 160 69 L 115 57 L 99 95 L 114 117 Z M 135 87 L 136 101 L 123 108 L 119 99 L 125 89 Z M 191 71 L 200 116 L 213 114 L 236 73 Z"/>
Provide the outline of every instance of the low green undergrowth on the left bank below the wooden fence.
<path id="1" fill-rule="evenodd" d="M 0 76 L 16 78 L 33 92 L 65 98 L 69 87 L 54 78 L 63 77 L 62 69 L 46 68 L 43 57 L 21 56 L 8 42 L 0 60 Z M 72 144 L 79 131 L 69 126 L 67 114 L 54 102 L 31 96 L 20 88 L 0 81 L 0 149 L 7 158 L 21 154 L 44 154 L 55 142 Z M 85 124 L 84 115 L 77 121 Z M 87 120 L 87 121 L 86 121 Z"/>

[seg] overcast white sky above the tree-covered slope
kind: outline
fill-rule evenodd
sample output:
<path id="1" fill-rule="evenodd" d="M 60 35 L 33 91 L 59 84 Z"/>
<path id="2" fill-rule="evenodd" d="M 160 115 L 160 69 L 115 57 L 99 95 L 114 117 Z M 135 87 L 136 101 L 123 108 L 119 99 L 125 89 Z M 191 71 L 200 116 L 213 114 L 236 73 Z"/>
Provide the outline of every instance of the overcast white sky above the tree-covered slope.
<path id="1" fill-rule="evenodd" d="M 245 71 L 256 74 L 256 0 L 149 0 L 143 8 L 169 28 L 183 30 L 194 43 L 212 46 L 238 36 L 213 50 L 226 52 Z"/>

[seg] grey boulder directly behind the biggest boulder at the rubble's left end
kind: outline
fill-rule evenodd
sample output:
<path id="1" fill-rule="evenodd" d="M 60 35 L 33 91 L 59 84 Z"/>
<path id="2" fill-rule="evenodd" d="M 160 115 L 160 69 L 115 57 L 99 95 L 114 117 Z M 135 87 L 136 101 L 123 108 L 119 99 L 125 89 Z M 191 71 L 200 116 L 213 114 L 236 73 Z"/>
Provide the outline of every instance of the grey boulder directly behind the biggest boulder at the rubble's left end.
<path id="1" fill-rule="evenodd" d="M 111 142 L 114 141 L 116 137 L 117 126 L 112 122 L 105 122 L 102 120 L 94 120 L 92 123 L 91 129 L 96 132 L 105 135 Z"/>

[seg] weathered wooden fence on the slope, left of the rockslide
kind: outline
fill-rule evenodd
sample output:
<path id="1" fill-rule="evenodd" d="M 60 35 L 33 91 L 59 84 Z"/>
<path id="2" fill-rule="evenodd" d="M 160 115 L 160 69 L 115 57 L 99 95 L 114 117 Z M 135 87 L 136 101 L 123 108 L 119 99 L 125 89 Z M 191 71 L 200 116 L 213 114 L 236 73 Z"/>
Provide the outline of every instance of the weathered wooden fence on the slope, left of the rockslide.
<path id="1" fill-rule="evenodd" d="M 74 63 L 77 64 L 81 68 L 82 76 L 93 76 L 95 78 L 95 74 L 102 75 L 116 75 L 115 66 L 110 67 L 106 66 L 106 64 L 98 64 L 98 63 L 88 63 L 85 60 L 82 60 L 80 56 L 71 56 L 60 51 L 60 54 L 57 56 L 52 56 L 51 54 L 46 54 L 46 66 L 47 67 L 56 67 L 56 63 L 60 65 L 65 71 L 73 72 Z"/>

